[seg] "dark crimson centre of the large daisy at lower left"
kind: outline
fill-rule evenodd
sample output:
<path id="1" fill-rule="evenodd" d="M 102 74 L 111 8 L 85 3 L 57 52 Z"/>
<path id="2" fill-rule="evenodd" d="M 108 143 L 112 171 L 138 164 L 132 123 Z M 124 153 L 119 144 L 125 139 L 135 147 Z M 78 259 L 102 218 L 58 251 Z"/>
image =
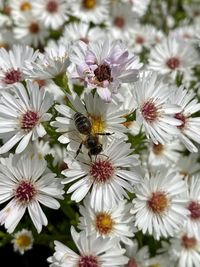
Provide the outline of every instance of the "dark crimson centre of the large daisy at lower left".
<path id="1" fill-rule="evenodd" d="M 21 203 L 29 203 L 36 195 L 36 189 L 30 181 L 23 180 L 19 183 L 15 198 Z"/>

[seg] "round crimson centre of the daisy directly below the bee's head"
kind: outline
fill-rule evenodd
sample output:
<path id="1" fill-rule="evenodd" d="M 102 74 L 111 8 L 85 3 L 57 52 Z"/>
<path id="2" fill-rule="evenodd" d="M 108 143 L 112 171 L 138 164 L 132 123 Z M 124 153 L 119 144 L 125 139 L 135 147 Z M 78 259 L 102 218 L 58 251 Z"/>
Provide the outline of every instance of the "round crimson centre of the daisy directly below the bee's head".
<path id="1" fill-rule="evenodd" d="M 90 167 L 90 175 L 94 178 L 95 182 L 105 183 L 114 174 L 114 167 L 107 160 L 94 161 Z"/>

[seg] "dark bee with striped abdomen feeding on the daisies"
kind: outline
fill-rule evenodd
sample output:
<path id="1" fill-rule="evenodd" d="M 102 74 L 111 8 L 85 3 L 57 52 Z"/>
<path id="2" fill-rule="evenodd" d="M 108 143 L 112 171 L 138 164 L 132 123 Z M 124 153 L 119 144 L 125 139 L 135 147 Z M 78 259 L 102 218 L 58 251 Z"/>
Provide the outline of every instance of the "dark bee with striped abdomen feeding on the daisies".
<path id="1" fill-rule="evenodd" d="M 88 155 L 91 158 L 92 155 L 98 155 L 101 153 L 103 146 L 99 142 L 98 135 L 111 135 L 112 133 L 92 133 L 92 124 L 88 117 L 84 114 L 76 112 L 74 114 L 74 123 L 79 133 L 86 135 L 86 139 L 80 143 L 80 146 L 76 152 L 75 158 L 80 153 L 82 145 L 89 150 Z"/>

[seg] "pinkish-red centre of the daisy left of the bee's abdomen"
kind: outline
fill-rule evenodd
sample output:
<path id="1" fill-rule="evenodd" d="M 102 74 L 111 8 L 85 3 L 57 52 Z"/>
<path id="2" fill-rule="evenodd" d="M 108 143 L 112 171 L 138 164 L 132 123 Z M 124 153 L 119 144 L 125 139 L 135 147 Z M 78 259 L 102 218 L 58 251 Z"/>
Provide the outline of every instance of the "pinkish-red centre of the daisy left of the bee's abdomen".
<path id="1" fill-rule="evenodd" d="M 21 129 L 28 133 L 37 125 L 38 121 L 38 113 L 28 110 L 21 118 Z"/>

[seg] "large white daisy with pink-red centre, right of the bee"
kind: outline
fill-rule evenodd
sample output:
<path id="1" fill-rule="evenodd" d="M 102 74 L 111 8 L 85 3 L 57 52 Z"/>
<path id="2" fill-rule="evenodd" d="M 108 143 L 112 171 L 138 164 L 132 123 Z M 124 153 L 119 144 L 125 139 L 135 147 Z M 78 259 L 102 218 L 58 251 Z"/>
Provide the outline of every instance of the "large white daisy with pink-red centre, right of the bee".
<path id="1" fill-rule="evenodd" d="M 156 73 L 148 73 L 134 84 L 136 121 L 144 127 L 148 138 L 155 144 L 165 144 L 177 134 L 175 126 L 181 124 L 173 118 L 181 108 L 169 102 L 171 91 Z"/>

